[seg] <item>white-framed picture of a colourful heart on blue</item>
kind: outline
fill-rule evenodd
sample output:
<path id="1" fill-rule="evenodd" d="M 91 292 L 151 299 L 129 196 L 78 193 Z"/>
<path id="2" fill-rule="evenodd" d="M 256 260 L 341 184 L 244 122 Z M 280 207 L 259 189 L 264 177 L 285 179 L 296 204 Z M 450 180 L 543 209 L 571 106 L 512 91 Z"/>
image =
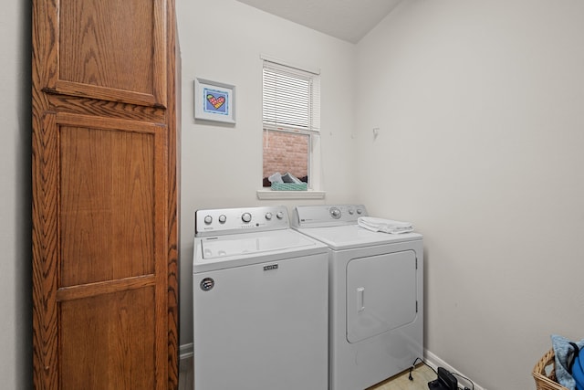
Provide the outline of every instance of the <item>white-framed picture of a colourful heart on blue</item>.
<path id="1" fill-rule="evenodd" d="M 235 86 L 194 79 L 194 118 L 235 123 Z"/>

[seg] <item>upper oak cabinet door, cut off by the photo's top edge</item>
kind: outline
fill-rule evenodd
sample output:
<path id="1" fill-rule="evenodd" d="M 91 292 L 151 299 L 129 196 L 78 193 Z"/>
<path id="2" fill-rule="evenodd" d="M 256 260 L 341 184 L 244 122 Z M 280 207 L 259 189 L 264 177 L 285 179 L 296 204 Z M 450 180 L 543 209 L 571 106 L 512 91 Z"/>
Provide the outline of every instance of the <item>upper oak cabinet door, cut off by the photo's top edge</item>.
<path id="1" fill-rule="evenodd" d="M 57 39 L 45 47 L 47 91 L 167 106 L 166 0 L 56 3 L 47 6 Z"/>

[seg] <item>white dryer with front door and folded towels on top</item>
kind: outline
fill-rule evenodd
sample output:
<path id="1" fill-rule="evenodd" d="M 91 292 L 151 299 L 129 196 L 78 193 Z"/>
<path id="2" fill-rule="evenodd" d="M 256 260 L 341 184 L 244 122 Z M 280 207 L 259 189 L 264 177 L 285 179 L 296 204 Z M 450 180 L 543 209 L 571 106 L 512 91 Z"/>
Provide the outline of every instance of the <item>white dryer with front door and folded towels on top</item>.
<path id="1" fill-rule="evenodd" d="M 328 245 L 329 388 L 363 390 L 423 353 L 422 235 L 373 232 L 362 205 L 297 206 L 292 225 Z"/>

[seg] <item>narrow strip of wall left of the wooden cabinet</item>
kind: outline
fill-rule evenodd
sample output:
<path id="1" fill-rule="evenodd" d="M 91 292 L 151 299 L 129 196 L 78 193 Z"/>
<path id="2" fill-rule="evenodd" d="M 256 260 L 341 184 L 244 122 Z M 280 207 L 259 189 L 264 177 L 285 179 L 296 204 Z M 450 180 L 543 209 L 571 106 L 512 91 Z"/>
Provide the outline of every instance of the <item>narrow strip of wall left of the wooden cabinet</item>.
<path id="1" fill-rule="evenodd" d="M 0 8 L 0 378 L 32 388 L 30 5 Z"/>

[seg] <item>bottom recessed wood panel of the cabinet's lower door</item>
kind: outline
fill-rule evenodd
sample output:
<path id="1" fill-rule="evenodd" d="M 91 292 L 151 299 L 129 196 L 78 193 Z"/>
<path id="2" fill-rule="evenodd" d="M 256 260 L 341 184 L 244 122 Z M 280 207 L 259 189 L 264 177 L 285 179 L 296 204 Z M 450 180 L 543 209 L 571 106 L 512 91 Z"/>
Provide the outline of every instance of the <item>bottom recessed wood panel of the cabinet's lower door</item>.
<path id="1" fill-rule="evenodd" d="M 154 389 L 153 287 L 61 302 L 63 390 Z"/>

